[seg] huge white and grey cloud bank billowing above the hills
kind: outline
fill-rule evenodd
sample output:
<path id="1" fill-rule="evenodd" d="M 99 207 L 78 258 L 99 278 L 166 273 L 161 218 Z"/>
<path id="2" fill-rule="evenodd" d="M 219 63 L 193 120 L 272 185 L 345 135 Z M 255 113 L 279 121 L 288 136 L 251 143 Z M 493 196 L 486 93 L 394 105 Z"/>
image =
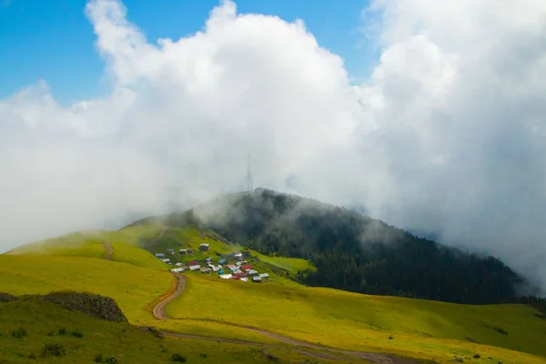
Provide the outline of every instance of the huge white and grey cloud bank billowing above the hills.
<path id="1" fill-rule="evenodd" d="M 0 100 L 1 247 L 244 189 L 250 152 L 255 185 L 363 205 L 546 286 L 546 3 L 373 13 L 379 66 L 351 86 L 301 21 L 223 1 L 151 42 L 124 5 L 90 1 L 112 94 L 66 108 L 40 82 Z"/>

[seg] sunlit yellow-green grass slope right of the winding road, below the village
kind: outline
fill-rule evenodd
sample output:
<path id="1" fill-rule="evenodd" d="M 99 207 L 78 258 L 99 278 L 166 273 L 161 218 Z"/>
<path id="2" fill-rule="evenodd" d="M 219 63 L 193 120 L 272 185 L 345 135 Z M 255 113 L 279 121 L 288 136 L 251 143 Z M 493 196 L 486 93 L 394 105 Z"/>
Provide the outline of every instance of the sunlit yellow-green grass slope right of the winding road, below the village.
<path id="1" fill-rule="evenodd" d="M 167 307 L 167 314 L 174 318 L 243 323 L 338 348 L 438 361 L 480 353 L 486 359 L 521 363 L 546 361 L 513 351 L 546 355 L 546 320 L 536 313 L 521 305 L 456 305 L 196 275 L 187 278 L 185 294 Z"/>

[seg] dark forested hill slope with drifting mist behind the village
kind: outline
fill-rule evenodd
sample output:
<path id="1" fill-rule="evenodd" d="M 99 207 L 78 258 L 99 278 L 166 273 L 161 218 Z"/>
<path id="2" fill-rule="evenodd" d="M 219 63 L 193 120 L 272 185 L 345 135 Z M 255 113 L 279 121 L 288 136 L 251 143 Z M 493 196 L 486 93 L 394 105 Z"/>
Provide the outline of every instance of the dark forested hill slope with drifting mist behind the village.
<path id="1" fill-rule="evenodd" d="M 171 227 L 212 229 L 265 255 L 310 260 L 311 286 L 456 303 L 517 300 L 523 279 L 499 259 L 480 257 L 382 221 L 309 198 L 256 189 L 181 214 L 148 217 Z"/>

